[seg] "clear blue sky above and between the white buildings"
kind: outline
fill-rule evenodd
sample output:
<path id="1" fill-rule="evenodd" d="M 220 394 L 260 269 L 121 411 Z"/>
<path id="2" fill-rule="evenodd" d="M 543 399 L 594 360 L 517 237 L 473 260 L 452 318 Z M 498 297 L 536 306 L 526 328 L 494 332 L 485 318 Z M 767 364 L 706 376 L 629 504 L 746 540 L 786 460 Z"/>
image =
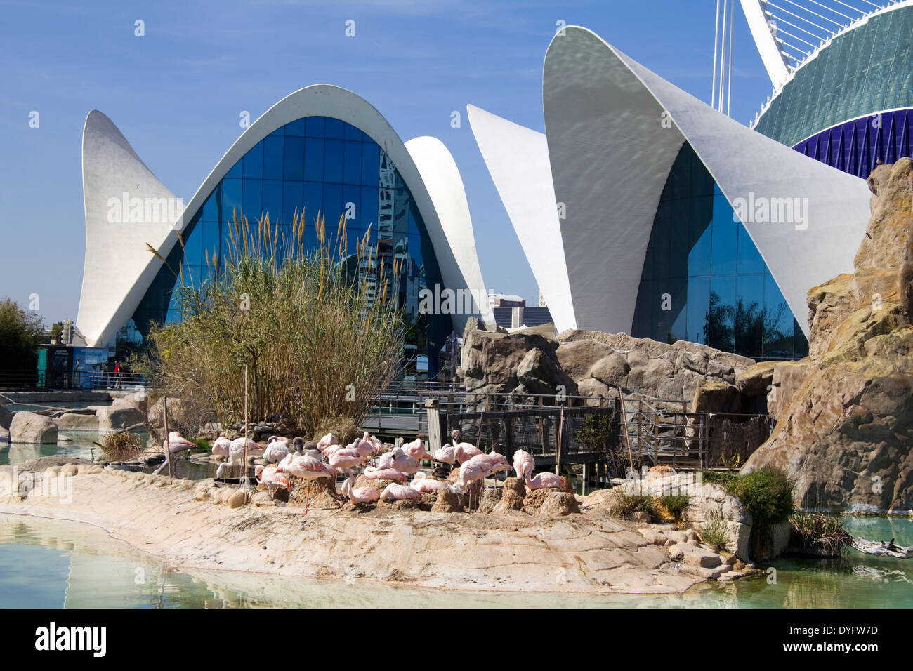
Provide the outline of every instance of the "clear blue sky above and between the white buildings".
<path id="1" fill-rule="evenodd" d="M 37 294 L 47 324 L 76 319 L 89 110 L 107 114 L 186 203 L 241 133 L 241 110 L 254 120 L 294 90 L 329 83 L 371 102 L 404 141 L 446 144 L 488 290 L 535 301 L 467 103 L 544 131 L 542 60 L 559 20 L 708 100 L 715 11 L 714 0 L 0 2 L 0 298 L 25 306 Z M 137 19 L 145 37 L 134 36 Z M 349 19 L 355 37 L 345 37 Z M 771 84 L 740 11 L 735 44 L 732 116 L 747 123 Z"/>

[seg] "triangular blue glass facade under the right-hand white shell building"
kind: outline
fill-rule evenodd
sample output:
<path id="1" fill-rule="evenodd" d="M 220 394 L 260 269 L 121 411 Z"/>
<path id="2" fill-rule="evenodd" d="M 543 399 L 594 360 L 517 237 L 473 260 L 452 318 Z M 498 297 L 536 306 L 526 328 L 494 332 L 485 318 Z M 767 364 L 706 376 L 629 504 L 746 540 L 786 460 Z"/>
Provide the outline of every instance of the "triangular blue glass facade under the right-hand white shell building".
<path id="1" fill-rule="evenodd" d="M 656 210 L 632 335 L 701 342 L 756 360 L 808 353 L 758 248 L 687 143 Z"/>

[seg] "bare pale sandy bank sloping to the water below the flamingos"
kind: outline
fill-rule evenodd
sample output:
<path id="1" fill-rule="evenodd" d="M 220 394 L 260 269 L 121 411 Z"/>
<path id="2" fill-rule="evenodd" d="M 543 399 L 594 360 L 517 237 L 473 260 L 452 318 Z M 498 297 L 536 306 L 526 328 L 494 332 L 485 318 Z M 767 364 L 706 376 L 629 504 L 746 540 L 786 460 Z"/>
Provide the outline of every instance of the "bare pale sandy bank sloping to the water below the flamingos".
<path id="1" fill-rule="evenodd" d="M 86 462 L 79 475 L 43 477 L 22 497 L 10 476 L 21 481 L 30 467 L 40 475 L 47 464 L 38 462 L 0 467 L 0 513 L 92 524 L 175 567 L 492 592 L 661 594 L 704 580 L 599 509 L 533 517 L 318 503 L 303 515 L 263 497 L 230 508 L 212 496 L 213 480 L 169 485 Z"/>

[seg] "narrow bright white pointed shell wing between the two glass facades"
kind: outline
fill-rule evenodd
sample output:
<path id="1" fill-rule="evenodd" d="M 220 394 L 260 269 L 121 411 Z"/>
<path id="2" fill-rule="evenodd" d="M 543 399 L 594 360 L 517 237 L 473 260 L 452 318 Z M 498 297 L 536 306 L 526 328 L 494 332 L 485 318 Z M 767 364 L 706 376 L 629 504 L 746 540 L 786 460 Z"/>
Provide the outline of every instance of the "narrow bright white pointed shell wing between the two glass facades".
<path id="1" fill-rule="evenodd" d="M 545 134 L 474 105 L 467 115 L 555 329 L 576 329 Z"/>

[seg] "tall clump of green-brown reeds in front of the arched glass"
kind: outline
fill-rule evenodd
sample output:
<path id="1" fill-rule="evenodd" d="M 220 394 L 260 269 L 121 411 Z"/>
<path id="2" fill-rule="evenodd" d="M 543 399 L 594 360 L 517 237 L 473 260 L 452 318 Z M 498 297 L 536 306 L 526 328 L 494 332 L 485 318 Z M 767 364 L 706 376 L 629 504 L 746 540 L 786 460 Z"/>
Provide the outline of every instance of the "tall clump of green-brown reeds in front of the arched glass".
<path id="1" fill-rule="evenodd" d="M 149 336 L 169 396 L 243 421 L 247 366 L 251 421 L 286 414 L 311 435 L 329 417 L 361 423 L 403 358 L 402 264 L 378 256 L 367 233 L 349 255 L 344 217 L 335 236 L 320 215 L 315 225 L 306 249 L 303 215 L 290 228 L 235 216 L 225 257 L 207 255 L 208 277 L 180 277 L 182 320 Z"/>

